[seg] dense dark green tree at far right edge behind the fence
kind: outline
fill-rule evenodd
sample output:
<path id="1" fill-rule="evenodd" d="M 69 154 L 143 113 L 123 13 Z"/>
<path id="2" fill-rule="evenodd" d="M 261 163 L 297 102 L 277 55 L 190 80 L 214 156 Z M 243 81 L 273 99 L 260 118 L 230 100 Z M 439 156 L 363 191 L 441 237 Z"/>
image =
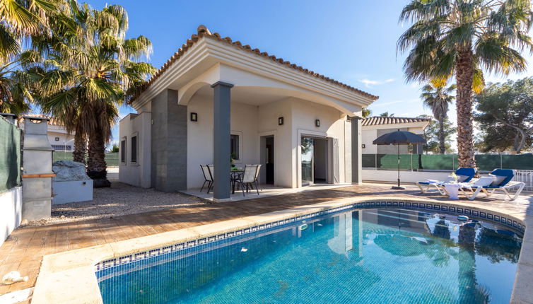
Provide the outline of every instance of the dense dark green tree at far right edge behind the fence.
<path id="1" fill-rule="evenodd" d="M 533 77 L 494 83 L 475 96 L 484 151 L 521 153 L 533 141 Z M 530 147 L 530 146 L 529 146 Z"/>

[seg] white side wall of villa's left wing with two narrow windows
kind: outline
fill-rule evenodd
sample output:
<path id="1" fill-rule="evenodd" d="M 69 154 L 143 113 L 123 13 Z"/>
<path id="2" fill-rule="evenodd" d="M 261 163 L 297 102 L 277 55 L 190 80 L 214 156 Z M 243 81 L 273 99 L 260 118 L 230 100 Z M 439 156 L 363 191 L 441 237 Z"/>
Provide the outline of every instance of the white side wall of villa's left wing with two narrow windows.
<path id="1" fill-rule="evenodd" d="M 137 136 L 137 162 L 131 163 L 131 136 Z M 119 181 L 137 187 L 151 187 L 151 113 L 129 114 L 119 122 L 119 149 L 126 137 L 126 162 L 119 159 Z M 121 155 L 119 150 L 119 158 Z"/>

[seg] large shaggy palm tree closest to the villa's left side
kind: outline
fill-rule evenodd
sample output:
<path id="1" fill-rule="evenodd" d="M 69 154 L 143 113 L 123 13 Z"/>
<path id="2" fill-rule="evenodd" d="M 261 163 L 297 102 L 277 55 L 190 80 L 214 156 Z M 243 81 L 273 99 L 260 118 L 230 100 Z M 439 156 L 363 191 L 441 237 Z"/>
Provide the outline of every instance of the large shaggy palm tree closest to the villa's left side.
<path id="1" fill-rule="evenodd" d="M 85 159 L 88 139 L 87 173 L 95 187 L 108 186 L 105 146 L 118 119 L 118 107 L 146 82 L 155 69 L 137 62 L 151 52 L 146 37 L 124 39 L 127 13 L 122 6 L 95 11 L 87 5 L 69 8 L 76 26 L 64 27 L 59 40 L 42 41 L 52 45 L 49 61 L 43 65 L 40 104 L 76 130 L 74 160 Z"/>

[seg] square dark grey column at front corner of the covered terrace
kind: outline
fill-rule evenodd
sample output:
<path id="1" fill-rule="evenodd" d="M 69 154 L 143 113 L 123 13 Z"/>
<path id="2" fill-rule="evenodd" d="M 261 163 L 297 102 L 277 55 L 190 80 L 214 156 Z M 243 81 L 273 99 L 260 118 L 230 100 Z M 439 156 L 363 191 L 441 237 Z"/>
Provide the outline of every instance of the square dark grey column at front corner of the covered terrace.
<path id="1" fill-rule="evenodd" d="M 211 88 L 214 90 L 213 94 L 213 199 L 220 201 L 223 199 L 230 199 L 230 108 L 231 97 L 230 89 L 233 87 L 231 83 L 218 81 L 214 83 Z"/>

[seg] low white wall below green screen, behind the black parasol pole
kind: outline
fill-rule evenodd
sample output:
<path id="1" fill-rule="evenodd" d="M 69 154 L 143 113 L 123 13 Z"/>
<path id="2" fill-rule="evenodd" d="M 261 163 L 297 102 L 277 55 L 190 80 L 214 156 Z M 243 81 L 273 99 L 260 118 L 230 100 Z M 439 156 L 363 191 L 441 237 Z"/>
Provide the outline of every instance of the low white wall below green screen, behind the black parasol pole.
<path id="1" fill-rule="evenodd" d="M 416 172 L 416 171 L 400 171 L 400 180 L 402 182 L 423 182 L 425 180 L 445 180 L 450 172 Z M 363 180 L 377 181 L 377 182 L 397 182 L 398 171 L 394 170 L 373 170 L 363 169 Z"/>

